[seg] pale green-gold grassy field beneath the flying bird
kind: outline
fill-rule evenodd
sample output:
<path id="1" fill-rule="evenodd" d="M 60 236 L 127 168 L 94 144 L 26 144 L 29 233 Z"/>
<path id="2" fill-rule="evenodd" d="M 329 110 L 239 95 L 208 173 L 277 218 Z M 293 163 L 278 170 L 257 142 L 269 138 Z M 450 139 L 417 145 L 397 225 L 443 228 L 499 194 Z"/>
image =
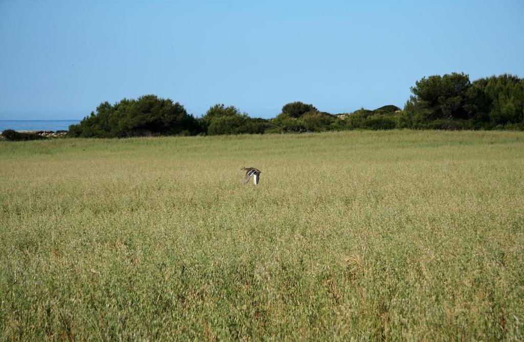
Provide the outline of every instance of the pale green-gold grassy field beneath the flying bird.
<path id="1" fill-rule="evenodd" d="M 0 260 L 3 339 L 522 340 L 524 133 L 1 142 Z"/>

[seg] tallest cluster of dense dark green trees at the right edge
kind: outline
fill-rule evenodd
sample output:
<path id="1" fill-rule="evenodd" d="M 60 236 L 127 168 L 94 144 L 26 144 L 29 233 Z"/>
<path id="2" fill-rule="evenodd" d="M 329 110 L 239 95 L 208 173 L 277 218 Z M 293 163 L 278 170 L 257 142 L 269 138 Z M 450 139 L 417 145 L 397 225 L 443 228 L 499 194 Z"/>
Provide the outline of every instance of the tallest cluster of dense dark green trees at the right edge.
<path id="1" fill-rule="evenodd" d="M 451 125 L 449 120 L 469 120 L 468 127 L 492 129 L 524 121 L 524 80 L 509 74 L 473 83 L 464 73 L 435 75 L 417 81 L 411 91 L 413 95 L 403 114 L 403 123 L 409 128 L 439 127 Z M 430 125 L 433 121 L 437 122 Z"/>

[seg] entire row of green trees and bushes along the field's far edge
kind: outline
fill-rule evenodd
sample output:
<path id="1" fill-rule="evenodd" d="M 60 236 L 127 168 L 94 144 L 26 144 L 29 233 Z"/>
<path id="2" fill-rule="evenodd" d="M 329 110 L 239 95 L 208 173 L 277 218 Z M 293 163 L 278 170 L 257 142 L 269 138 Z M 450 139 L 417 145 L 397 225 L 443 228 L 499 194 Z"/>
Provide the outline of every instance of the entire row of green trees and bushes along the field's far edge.
<path id="1" fill-rule="evenodd" d="M 272 119 L 250 117 L 235 106 L 213 105 L 203 116 L 156 95 L 102 102 L 69 127 L 72 137 L 300 133 L 341 130 L 524 130 L 524 79 L 501 74 L 477 79 L 453 72 L 423 77 L 403 109 L 385 105 L 331 114 L 312 104 L 287 103 Z M 9 132 L 9 137 L 15 137 Z M 5 135 L 5 134 L 4 134 Z M 14 140 L 14 139 L 13 139 Z"/>

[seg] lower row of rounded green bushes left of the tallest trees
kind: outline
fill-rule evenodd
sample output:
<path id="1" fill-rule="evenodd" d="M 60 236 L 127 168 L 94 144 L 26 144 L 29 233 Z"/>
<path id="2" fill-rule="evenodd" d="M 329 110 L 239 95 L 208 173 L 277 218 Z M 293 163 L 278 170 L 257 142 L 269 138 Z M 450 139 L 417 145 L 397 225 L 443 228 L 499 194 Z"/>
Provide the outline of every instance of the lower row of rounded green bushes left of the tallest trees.
<path id="1" fill-rule="evenodd" d="M 351 129 L 393 129 L 396 106 L 370 111 L 361 109 L 349 114 L 321 112 L 312 104 L 292 102 L 284 105 L 273 119 L 248 116 L 235 106 L 215 104 L 201 117 L 185 111 L 183 106 L 156 95 L 124 99 L 114 105 L 101 103 L 96 112 L 69 127 L 72 137 L 131 137 L 147 135 L 223 135 L 301 133 Z"/>

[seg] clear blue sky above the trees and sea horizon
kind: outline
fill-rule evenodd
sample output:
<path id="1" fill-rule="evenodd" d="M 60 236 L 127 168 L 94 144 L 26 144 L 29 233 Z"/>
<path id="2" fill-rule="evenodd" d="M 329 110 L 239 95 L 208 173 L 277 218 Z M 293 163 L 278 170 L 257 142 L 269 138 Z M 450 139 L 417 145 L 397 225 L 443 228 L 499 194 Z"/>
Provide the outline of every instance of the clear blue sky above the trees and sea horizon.
<path id="1" fill-rule="evenodd" d="M 524 1 L 0 1 L 0 120 L 150 93 L 197 116 L 402 107 L 453 71 L 524 77 Z"/>

